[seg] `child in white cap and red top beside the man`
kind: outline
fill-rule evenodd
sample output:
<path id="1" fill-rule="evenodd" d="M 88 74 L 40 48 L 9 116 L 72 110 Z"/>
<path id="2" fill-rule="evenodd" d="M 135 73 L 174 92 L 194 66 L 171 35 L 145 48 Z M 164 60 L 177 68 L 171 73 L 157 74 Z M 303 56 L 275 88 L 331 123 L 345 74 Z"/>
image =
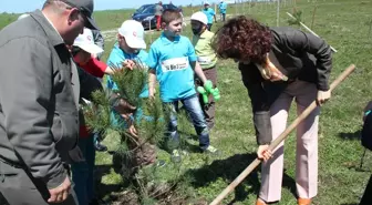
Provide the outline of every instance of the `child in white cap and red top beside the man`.
<path id="1" fill-rule="evenodd" d="M 104 74 L 113 73 L 113 70 L 104 62 L 92 58 L 93 54 L 101 52 L 103 52 L 103 50 L 94 43 L 92 31 L 86 28 L 84 29 L 84 32 L 75 39 L 71 48 L 71 53 L 76 65 L 96 78 L 102 78 Z M 83 114 L 80 113 L 80 139 L 78 146 L 81 150 L 84 161 L 73 162 L 71 166 L 72 181 L 75 184 L 74 191 L 76 193 L 79 204 L 90 204 L 95 199 L 93 180 L 95 166 L 95 134 L 97 133 L 89 132 L 84 124 Z"/>

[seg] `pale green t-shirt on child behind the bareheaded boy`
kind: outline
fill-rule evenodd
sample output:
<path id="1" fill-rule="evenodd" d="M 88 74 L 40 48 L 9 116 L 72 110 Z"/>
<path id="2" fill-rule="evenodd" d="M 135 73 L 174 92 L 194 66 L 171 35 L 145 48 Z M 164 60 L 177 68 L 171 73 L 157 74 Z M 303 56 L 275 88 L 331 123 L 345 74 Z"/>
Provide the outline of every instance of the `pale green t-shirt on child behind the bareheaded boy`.
<path id="1" fill-rule="evenodd" d="M 205 30 L 202 35 L 193 37 L 193 45 L 195 47 L 195 53 L 198 57 L 197 60 L 202 69 L 210 69 L 217 63 L 217 55 L 211 49 L 211 39 L 215 33 Z"/>

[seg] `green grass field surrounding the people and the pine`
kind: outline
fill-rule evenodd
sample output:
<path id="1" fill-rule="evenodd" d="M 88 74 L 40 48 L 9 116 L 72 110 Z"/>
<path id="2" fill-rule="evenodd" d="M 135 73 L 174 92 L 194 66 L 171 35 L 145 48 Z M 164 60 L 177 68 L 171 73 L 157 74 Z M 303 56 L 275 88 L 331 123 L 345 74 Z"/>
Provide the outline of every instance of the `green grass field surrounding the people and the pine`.
<path id="1" fill-rule="evenodd" d="M 256 6 L 248 10 L 246 7 L 235 10 L 249 14 L 267 23 L 276 25 L 276 9 Z M 286 11 L 291 12 L 292 6 L 281 9 L 280 25 L 288 25 Z M 302 20 L 311 24 L 313 2 L 297 0 L 297 9 L 302 10 Z M 128 19 L 132 11 L 102 11 L 95 18 L 103 30 L 112 30 Z M 187 10 L 187 13 L 190 13 Z M 0 16 L 1 23 L 9 22 L 16 16 Z M 338 50 L 333 55 L 333 80 L 349 64 L 354 63 L 358 70 L 343 82 L 332 94 L 333 98 L 323 107 L 320 117 L 319 135 L 319 194 L 313 204 L 321 205 L 353 205 L 358 204 L 363 193 L 368 177 L 371 174 L 372 155 L 366 153 L 363 168 L 360 160 L 363 148 L 359 141 L 361 129 L 361 112 L 368 101 L 372 100 L 372 34 L 369 37 L 372 20 L 372 1 L 366 0 L 326 0 L 318 1 L 313 30 Z M 217 27 L 214 25 L 213 30 Z M 148 43 L 159 33 L 146 35 Z M 185 35 L 190 37 L 190 28 L 185 28 Z M 105 61 L 114 44 L 115 33 L 106 34 Z M 211 202 L 256 156 L 256 137 L 252 125 L 252 114 L 247 91 L 244 88 L 237 65 L 232 61 L 218 62 L 218 88 L 221 100 L 217 103 L 217 122 L 211 131 L 211 144 L 224 152 L 219 158 L 209 158 L 194 152 L 197 141 L 187 139 L 186 150 L 189 155 L 184 157 L 179 170 L 180 175 L 192 180 L 187 188 L 195 197 Z M 296 107 L 291 110 L 289 122 L 296 117 Z M 185 136 L 194 134 L 190 124 L 183 123 L 180 131 Z M 104 144 L 115 150 L 117 140 L 107 137 Z M 294 184 L 294 147 L 292 134 L 286 142 L 285 180 L 281 205 L 296 204 Z M 159 158 L 168 161 L 168 155 L 159 151 Z M 97 186 L 99 195 L 108 204 L 113 192 L 123 188 L 121 176 L 112 167 L 112 156 L 108 153 L 97 153 L 96 163 L 102 175 Z M 165 173 L 172 167 L 168 162 Z M 254 204 L 259 189 L 259 170 L 251 174 L 238 188 L 224 201 L 224 204 Z"/>

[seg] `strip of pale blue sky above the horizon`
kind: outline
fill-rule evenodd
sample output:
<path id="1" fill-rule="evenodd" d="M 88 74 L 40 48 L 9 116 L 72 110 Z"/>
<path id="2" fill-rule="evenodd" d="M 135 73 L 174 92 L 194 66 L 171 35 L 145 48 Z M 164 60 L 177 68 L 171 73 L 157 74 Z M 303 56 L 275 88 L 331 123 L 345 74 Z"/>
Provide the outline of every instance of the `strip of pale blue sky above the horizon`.
<path id="1" fill-rule="evenodd" d="M 45 0 L 0 0 L 0 12 L 23 13 L 41 9 Z M 124 8 L 138 8 L 146 3 L 156 3 L 158 0 L 94 0 L 94 10 L 110 10 Z M 169 0 L 163 0 L 168 3 Z M 199 4 L 202 0 L 172 0 L 176 6 Z M 210 0 L 210 2 L 214 2 Z"/>

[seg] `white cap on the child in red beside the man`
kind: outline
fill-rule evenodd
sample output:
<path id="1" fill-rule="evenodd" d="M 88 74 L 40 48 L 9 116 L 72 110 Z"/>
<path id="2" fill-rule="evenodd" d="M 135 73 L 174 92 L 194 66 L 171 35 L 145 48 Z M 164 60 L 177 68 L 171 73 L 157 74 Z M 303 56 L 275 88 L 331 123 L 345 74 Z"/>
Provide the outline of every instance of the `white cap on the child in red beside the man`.
<path id="1" fill-rule="evenodd" d="M 103 52 L 103 49 L 94 43 L 92 30 L 87 28 L 84 28 L 83 34 L 78 35 L 73 45 L 79 47 L 91 54 L 97 54 Z"/>

